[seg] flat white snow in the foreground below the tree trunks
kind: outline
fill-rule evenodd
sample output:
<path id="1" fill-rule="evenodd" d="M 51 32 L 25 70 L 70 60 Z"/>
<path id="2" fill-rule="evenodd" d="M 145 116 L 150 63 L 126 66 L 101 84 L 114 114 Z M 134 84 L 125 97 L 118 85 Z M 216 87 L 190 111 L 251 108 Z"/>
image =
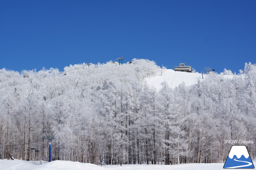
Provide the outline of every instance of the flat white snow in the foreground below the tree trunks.
<path id="1" fill-rule="evenodd" d="M 252 161 L 256 164 L 256 159 Z M 79 163 L 71 161 L 21 161 L 0 160 L 1 170 L 222 170 L 224 163 L 212 164 L 180 164 L 180 165 L 94 165 L 90 163 Z"/>

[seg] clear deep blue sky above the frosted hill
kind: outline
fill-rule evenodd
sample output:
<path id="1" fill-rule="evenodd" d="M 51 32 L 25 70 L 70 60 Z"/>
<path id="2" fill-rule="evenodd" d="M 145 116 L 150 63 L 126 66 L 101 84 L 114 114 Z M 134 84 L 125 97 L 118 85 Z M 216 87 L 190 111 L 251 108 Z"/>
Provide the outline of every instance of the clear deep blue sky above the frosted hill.
<path id="1" fill-rule="evenodd" d="M 238 73 L 256 63 L 255 0 L 1 0 L 0 68 L 16 71 L 123 56 Z"/>

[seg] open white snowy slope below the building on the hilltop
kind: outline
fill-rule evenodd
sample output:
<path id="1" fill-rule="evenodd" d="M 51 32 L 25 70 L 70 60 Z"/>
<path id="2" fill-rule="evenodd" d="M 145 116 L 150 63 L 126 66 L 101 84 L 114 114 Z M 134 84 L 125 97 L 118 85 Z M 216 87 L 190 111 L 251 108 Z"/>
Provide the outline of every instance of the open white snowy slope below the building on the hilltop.
<path id="1" fill-rule="evenodd" d="M 205 78 L 207 74 L 204 74 Z M 233 75 L 220 75 L 225 78 L 232 79 Z M 187 73 L 187 72 L 175 72 L 172 69 L 164 69 L 162 76 L 161 73 L 158 73 L 156 76 L 151 76 L 150 78 L 145 79 L 149 86 L 154 86 L 156 90 L 161 89 L 161 83 L 166 81 L 170 88 L 177 87 L 180 83 L 184 82 L 186 86 L 191 86 L 196 84 L 198 80 L 201 82 L 202 79 L 201 73 Z"/>

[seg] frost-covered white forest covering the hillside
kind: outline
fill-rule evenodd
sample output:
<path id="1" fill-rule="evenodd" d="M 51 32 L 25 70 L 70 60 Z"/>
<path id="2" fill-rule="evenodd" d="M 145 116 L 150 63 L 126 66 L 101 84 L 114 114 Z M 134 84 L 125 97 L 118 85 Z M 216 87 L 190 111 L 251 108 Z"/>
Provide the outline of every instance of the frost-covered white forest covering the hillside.
<path id="1" fill-rule="evenodd" d="M 225 79 L 156 90 L 161 72 L 133 59 L 58 69 L 0 70 L 0 154 L 28 161 L 93 164 L 223 163 L 232 144 L 256 142 L 256 65 Z M 45 132 L 44 132 L 45 131 Z M 255 144 L 248 147 L 251 158 Z"/>

